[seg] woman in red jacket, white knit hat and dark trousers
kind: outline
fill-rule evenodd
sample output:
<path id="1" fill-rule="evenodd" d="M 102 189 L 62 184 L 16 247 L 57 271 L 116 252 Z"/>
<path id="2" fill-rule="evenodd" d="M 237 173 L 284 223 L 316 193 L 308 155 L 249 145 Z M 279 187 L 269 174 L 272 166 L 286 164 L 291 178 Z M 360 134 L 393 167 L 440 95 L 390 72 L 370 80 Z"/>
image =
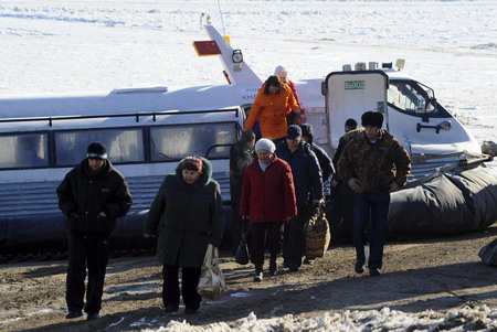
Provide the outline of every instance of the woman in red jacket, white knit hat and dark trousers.
<path id="1" fill-rule="evenodd" d="M 269 275 L 276 275 L 276 256 L 281 249 L 284 221 L 296 215 L 292 169 L 276 157 L 273 141 L 261 139 L 255 144 L 257 160 L 243 178 L 240 215 L 251 221 L 251 260 L 255 266 L 254 281 L 263 280 L 265 238 L 269 248 Z"/>

